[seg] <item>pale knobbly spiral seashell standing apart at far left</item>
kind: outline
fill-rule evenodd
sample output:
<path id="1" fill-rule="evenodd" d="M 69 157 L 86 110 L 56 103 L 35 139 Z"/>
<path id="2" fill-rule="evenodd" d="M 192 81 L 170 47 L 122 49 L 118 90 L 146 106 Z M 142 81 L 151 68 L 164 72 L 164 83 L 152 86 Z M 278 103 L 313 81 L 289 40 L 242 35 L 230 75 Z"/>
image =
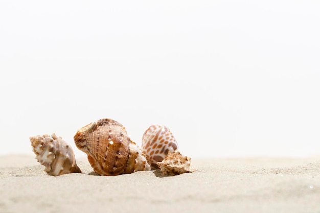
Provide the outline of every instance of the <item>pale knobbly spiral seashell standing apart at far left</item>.
<path id="1" fill-rule="evenodd" d="M 71 146 L 55 133 L 31 136 L 30 141 L 36 159 L 45 166 L 48 175 L 81 173 Z"/>

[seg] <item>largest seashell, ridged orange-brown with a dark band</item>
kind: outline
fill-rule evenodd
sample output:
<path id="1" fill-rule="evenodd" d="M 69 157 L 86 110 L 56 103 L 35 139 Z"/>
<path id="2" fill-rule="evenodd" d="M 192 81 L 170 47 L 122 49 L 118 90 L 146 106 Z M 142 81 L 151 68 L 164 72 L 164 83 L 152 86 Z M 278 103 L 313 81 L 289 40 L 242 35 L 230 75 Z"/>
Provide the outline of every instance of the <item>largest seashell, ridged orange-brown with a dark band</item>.
<path id="1" fill-rule="evenodd" d="M 88 155 L 88 161 L 100 175 L 120 175 L 150 171 L 140 148 L 130 140 L 122 124 L 101 119 L 77 131 L 75 144 Z"/>

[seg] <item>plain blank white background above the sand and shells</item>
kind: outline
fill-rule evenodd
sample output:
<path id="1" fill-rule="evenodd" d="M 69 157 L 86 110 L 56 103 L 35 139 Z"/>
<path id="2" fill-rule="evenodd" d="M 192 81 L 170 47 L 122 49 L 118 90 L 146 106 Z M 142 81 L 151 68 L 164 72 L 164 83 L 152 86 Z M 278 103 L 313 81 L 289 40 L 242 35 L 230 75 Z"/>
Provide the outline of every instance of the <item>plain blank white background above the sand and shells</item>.
<path id="1" fill-rule="evenodd" d="M 1 1 L 0 155 L 108 117 L 190 157 L 320 154 L 320 3 Z"/>

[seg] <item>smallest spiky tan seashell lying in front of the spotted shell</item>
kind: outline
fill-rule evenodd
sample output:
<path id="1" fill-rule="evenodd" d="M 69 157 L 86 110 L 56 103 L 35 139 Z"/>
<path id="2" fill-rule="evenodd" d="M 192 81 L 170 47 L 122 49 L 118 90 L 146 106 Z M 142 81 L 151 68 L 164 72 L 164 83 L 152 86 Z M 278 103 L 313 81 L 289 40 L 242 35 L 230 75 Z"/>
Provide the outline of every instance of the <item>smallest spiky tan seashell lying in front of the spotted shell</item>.
<path id="1" fill-rule="evenodd" d="M 169 152 L 163 161 L 157 162 L 157 165 L 165 175 L 179 175 L 196 171 L 191 166 L 190 157 L 181 155 L 180 152 Z"/>

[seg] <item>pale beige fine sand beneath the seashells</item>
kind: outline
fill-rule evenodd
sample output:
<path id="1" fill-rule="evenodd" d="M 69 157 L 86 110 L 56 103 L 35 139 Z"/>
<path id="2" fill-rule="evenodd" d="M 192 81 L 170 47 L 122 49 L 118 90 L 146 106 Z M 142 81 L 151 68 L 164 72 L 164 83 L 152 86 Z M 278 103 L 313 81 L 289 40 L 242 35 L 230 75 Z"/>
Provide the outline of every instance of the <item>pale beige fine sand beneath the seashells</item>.
<path id="1" fill-rule="evenodd" d="M 192 159 L 196 172 L 47 175 L 34 156 L 0 157 L 0 212 L 320 212 L 320 157 Z"/>

